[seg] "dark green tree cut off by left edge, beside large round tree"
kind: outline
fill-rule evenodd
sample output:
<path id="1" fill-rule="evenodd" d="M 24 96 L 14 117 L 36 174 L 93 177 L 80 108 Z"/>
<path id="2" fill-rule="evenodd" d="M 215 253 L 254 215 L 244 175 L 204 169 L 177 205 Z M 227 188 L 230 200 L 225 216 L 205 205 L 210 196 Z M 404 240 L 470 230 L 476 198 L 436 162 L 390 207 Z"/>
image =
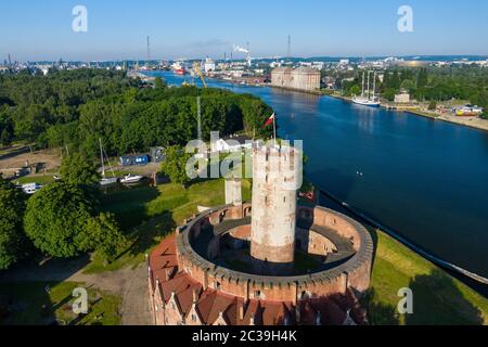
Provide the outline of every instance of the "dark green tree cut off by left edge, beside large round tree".
<path id="1" fill-rule="evenodd" d="M 30 249 L 24 233 L 26 196 L 0 175 L 0 270 L 10 268 Z"/>

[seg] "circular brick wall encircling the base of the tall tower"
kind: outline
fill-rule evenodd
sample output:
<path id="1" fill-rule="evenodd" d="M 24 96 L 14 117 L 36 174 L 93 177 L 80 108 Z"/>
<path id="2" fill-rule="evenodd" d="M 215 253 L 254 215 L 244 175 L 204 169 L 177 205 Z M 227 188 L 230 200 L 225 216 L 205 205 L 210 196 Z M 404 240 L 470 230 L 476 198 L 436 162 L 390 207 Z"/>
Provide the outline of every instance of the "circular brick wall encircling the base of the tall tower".
<path id="1" fill-rule="evenodd" d="M 297 235 L 311 230 L 310 245 L 331 246 L 325 235 L 349 240 L 355 254 L 336 267 L 303 275 L 256 275 L 217 265 L 218 241 L 231 231 L 245 229 L 251 223 L 249 205 L 222 206 L 201 214 L 178 231 L 176 239 L 178 264 L 204 287 L 245 299 L 295 301 L 305 296 L 325 297 L 344 294 L 347 288 L 364 292 L 369 287 L 373 242 L 368 230 L 351 218 L 324 207 L 297 207 Z M 201 233 L 213 227 L 214 237 L 202 244 Z M 198 243 L 195 241 L 198 240 Z"/>

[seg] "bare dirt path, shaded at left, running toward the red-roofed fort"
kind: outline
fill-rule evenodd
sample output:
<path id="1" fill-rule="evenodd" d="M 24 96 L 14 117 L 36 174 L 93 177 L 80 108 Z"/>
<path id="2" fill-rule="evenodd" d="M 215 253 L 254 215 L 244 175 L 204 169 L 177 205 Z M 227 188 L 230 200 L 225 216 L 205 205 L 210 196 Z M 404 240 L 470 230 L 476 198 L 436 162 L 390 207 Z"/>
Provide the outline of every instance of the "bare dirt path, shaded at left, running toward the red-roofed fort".
<path id="1" fill-rule="evenodd" d="M 123 325 L 149 325 L 147 269 L 144 265 L 113 272 L 82 273 L 86 259 L 67 260 L 47 266 L 18 268 L 0 274 L 0 282 L 82 282 L 121 297 Z"/>

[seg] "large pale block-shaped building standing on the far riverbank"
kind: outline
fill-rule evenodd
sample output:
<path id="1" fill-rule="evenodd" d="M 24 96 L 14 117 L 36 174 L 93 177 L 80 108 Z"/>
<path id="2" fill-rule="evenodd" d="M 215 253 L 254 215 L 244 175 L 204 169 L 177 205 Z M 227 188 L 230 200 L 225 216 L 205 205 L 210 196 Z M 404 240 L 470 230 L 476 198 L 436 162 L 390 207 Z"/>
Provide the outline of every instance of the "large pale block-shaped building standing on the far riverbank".
<path id="1" fill-rule="evenodd" d="M 320 89 L 320 72 L 311 67 L 277 67 L 271 72 L 271 85 L 296 90 Z"/>

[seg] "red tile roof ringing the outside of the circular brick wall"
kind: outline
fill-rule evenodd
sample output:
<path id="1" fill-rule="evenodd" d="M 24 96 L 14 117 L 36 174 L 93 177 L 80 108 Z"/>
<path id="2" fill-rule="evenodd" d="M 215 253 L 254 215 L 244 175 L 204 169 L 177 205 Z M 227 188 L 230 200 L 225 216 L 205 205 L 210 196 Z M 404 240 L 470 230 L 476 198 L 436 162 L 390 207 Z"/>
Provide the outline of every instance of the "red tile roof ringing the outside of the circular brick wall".
<path id="1" fill-rule="evenodd" d="M 228 324 L 249 325 L 253 318 L 256 325 L 280 325 L 296 323 L 296 308 L 288 301 L 255 300 L 228 295 L 211 288 L 203 290 L 201 283 L 185 272 L 178 272 L 178 257 L 175 236 L 164 240 L 149 258 L 153 290 L 156 279 L 157 288 L 164 303 L 168 303 L 171 293 L 178 304 L 182 318 L 187 318 L 196 294 L 196 311 L 204 324 L 214 324 L 220 314 Z M 169 278 L 167 274 L 170 274 Z M 320 323 L 341 325 L 346 319 L 346 311 L 351 309 L 355 321 L 365 322 L 364 311 L 352 293 L 333 295 L 331 297 L 312 298 L 299 304 L 300 324 L 316 324 L 320 312 Z M 241 316 L 242 311 L 242 316 Z M 242 317 L 242 319 L 241 319 Z"/>

